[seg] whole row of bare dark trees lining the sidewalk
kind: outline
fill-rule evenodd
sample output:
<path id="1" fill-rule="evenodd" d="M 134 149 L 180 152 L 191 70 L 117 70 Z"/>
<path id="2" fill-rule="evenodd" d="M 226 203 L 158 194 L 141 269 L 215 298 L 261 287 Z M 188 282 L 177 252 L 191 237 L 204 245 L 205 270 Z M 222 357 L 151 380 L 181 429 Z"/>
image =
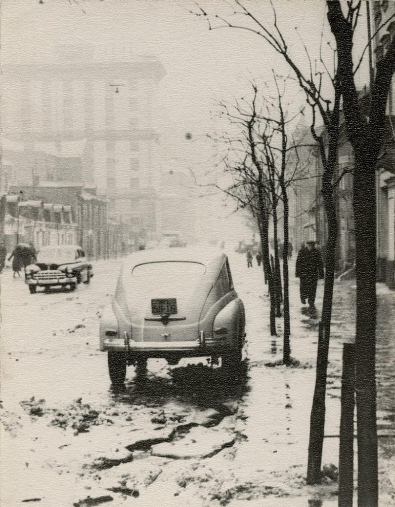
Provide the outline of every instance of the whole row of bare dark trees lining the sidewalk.
<path id="1" fill-rule="evenodd" d="M 368 2 L 366 3 L 368 4 Z M 229 5 L 229 4 L 228 4 Z M 334 189 L 339 144 L 339 128 L 345 122 L 347 137 L 354 150 L 353 208 L 356 235 L 356 404 L 358 429 L 358 505 L 378 505 L 376 383 L 375 383 L 375 329 L 376 329 L 376 162 L 384 136 L 385 108 L 391 79 L 395 71 L 395 38 L 388 45 L 375 71 L 370 72 L 369 111 L 362 110 L 359 101 L 356 73 L 366 53 L 356 58 L 354 43 L 361 19 L 363 2 L 337 0 L 326 2 L 326 18 L 332 33 L 329 44 L 333 48 L 330 60 L 313 59 L 305 49 L 306 67 L 295 59 L 283 32 L 279 28 L 273 8 L 271 21 L 260 17 L 247 2 L 235 0 L 228 15 L 207 12 L 199 6 L 197 12 L 208 22 L 210 30 L 229 28 L 248 32 L 262 42 L 262 50 L 271 48 L 286 63 L 290 77 L 303 92 L 311 111 L 311 134 L 319 147 L 324 173 L 321 194 L 328 221 L 326 245 L 326 274 L 322 308 L 322 333 L 317 357 L 316 388 L 311 414 L 308 483 L 320 481 L 321 458 L 325 422 L 326 367 L 330 339 L 332 297 L 335 271 L 337 217 Z M 368 13 L 369 15 L 369 13 Z M 371 41 L 368 41 L 368 46 Z M 366 48 L 365 48 L 366 49 Z M 299 55 L 298 55 L 299 56 Z M 304 68 L 308 70 L 305 71 Z M 284 363 L 290 364 L 289 300 L 287 266 L 287 190 L 298 177 L 297 164 L 289 167 L 290 154 L 297 159 L 298 146 L 287 132 L 294 118 L 287 118 L 283 106 L 284 92 L 274 75 L 277 96 L 261 100 L 257 86 L 252 83 L 252 99 L 221 103 L 222 114 L 230 122 L 231 134 L 217 137 L 224 142 L 227 153 L 223 160 L 232 175 L 233 184 L 226 192 L 241 207 L 249 207 L 256 217 L 264 257 L 264 270 L 269 283 L 271 299 L 271 333 L 276 333 L 275 317 L 279 309 L 278 256 L 271 266 L 269 257 L 268 224 L 272 214 L 277 223 L 277 204 L 281 201 L 284 218 Z M 325 134 L 319 130 L 322 123 Z M 241 135 L 234 137 L 234 129 Z M 233 129 L 233 130 L 232 130 Z M 324 136 L 325 135 L 325 139 Z M 275 227 L 275 245 L 276 245 Z M 276 252 L 277 248 L 275 248 Z M 276 283 L 277 282 L 277 283 Z M 277 285 L 277 293 L 276 293 Z"/>

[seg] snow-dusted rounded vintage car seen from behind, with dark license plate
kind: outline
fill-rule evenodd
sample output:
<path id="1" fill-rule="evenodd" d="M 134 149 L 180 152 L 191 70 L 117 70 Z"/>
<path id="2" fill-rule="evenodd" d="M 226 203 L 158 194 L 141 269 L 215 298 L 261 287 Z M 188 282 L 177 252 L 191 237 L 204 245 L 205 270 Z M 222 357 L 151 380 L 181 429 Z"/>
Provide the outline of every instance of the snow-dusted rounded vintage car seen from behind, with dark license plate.
<path id="1" fill-rule="evenodd" d="M 244 305 L 232 282 L 227 256 L 218 250 L 171 248 L 131 254 L 123 263 L 112 305 L 100 321 L 100 350 L 108 353 L 112 384 L 123 384 L 126 366 L 145 367 L 162 357 L 242 360 Z"/>

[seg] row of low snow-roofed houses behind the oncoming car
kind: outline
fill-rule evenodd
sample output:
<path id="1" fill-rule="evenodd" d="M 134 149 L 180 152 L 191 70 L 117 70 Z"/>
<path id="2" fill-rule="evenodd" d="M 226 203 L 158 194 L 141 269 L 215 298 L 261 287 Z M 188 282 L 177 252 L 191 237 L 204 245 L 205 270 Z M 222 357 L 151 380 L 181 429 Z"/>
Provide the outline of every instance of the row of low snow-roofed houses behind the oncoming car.
<path id="1" fill-rule="evenodd" d="M 90 259 L 105 259 L 137 249 L 140 236 L 136 224 L 110 220 L 107 199 L 82 185 L 11 186 L 0 201 L 0 239 L 9 252 L 18 243 L 79 244 Z"/>

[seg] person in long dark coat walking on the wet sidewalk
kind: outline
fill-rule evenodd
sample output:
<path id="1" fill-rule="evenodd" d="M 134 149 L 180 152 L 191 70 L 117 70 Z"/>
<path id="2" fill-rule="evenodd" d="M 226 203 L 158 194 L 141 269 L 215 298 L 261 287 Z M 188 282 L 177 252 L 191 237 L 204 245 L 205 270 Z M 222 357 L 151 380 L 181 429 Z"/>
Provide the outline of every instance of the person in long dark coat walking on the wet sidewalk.
<path id="1" fill-rule="evenodd" d="M 315 247 L 315 241 L 308 241 L 307 247 L 302 247 L 296 259 L 297 278 L 300 278 L 300 300 L 303 305 L 306 300 L 310 307 L 314 307 L 319 278 L 324 278 L 324 263 L 321 250 Z"/>

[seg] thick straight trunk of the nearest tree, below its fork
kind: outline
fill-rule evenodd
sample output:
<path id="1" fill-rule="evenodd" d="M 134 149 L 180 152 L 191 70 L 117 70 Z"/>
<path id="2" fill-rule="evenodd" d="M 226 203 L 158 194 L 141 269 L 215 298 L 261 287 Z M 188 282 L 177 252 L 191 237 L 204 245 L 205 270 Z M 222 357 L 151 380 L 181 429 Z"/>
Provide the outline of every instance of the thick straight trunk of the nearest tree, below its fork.
<path id="1" fill-rule="evenodd" d="M 356 237 L 356 400 L 358 428 L 358 507 L 378 505 L 376 427 L 376 187 L 377 153 L 355 153 Z"/>

